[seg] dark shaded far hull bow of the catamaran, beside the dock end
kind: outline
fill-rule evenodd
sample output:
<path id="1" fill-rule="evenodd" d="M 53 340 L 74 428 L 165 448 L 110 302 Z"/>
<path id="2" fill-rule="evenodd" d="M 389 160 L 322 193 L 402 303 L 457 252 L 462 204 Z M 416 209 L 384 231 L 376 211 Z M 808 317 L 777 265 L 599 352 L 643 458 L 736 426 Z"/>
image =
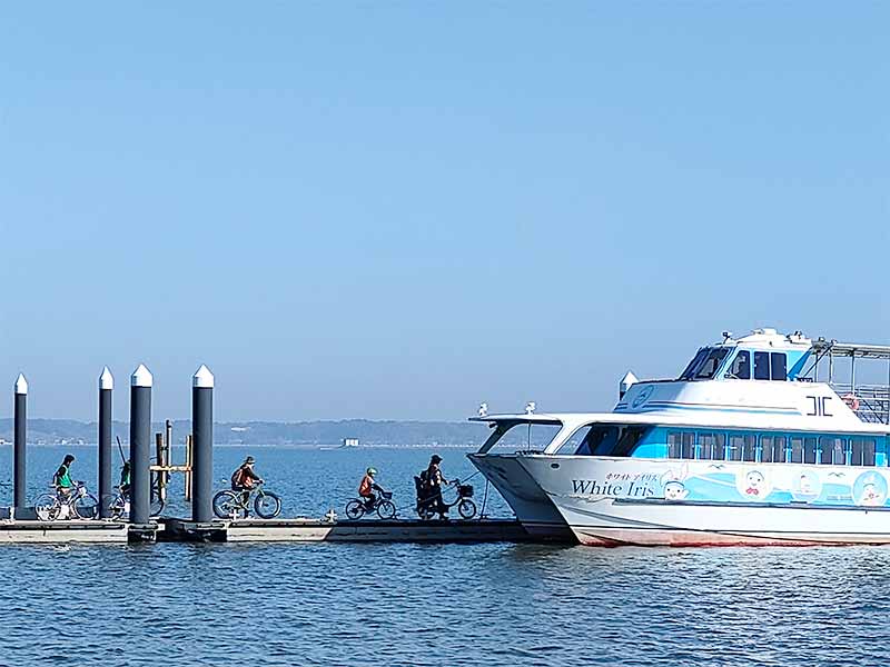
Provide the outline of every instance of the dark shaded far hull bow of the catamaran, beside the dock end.
<path id="1" fill-rule="evenodd" d="M 468 458 L 506 500 L 528 535 L 542 539 L 573 539 L 565 519 L 518 464 L 517 455 L 471 454 Z"/>

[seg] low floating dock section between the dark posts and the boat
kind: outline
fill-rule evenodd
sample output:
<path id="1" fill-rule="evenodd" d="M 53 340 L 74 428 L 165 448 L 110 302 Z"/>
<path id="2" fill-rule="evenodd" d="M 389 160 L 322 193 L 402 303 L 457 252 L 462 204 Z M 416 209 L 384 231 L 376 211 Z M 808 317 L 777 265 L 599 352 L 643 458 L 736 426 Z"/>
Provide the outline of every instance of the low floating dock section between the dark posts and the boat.
<path id="1" fill-rule="evenodd" d="M 227 542 L 495 542 L 528 541 L 516 520 L 419 521 L 409 519 L 324 521 L 316 519 L 241 519 L 195 522 L 161 519 L 161 541 Z"/>

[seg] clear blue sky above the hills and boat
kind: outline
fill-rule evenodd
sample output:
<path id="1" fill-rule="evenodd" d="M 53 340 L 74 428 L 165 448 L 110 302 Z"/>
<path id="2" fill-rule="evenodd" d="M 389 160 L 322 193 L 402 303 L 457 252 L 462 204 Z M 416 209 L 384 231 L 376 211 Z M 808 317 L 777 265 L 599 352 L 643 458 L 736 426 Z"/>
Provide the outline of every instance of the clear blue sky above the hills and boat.
<path id="1" fill-rule="evenodd" d="M 723 329 L 890 342 L 890 4 L 2 3 L 33 416 L 602 409 Z M 1 394 L 1 392 L 0 392 Z"/>

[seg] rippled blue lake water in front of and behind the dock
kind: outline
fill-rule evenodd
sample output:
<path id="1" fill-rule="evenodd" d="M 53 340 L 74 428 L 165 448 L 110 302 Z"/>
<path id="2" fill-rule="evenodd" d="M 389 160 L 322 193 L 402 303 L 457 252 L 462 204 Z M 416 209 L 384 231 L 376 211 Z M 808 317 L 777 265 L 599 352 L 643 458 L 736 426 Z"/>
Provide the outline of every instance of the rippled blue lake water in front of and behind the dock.
<path id="1" fill-rule="evenodd" d="M 72 448 L 88 481 L 90 449 Z M 63 452 L 31 449 L 32 495 Z M 409 505 L 431 454 L 251 452 L 308 516 L 367 465 Z M 220 486 L 245 454 L 216 451 Z M 883 548 L 6 546 L 0 665 L 886 665 L 888 570 Z"/>

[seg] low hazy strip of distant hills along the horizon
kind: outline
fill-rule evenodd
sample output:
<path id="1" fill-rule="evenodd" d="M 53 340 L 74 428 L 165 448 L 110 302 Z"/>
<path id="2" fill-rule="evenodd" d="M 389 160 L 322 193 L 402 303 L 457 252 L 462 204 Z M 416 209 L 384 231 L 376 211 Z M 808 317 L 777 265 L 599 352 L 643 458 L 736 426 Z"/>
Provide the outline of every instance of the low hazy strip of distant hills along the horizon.
<path id="1" fill-rule="evenodd" d="M 152 425 L 155 432 L 164 424 Z M 518 429 L 517 429 L 518 430 Z M 34 444 L 89 444 L 97 440 L 96 422 L 72 419 L 29 419 L 28 441 Z M 189 420 L 174 422 L 174 441 L 182 442 L 191 431 Z M 129 439 L 129 425 L 115 421 L 113 432 L 122 442 Z M 344 438 L 358 438 L 362 445 L 372 446 L 438 446 L 474 447 L 488 437 L 484 424 L 469 421 L 375 421 L 344 419 L 339 421 L 245 421 L 214 425 L 217 445 L 338 445 Z M 552 434 L 551 434 L 552 435 Z M 0 438 L 12 440 L 12 419 L 0 419 Z M 525 431 L 512 440 L 524 441 Z M 535 440 L 533 438 L 533 440 Z M 533 441 L 533 445 L 541 442 Z"/>

